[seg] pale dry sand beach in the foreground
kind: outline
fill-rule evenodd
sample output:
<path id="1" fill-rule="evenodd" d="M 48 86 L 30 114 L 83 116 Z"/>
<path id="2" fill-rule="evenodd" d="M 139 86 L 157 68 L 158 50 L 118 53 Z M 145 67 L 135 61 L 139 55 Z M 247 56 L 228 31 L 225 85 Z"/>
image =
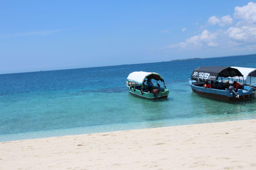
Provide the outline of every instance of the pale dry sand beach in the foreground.
<path id="1" fill-rule="evenodd" d="M 0 169 L 256 169 L 256 120 L 3 142 Z"/>

